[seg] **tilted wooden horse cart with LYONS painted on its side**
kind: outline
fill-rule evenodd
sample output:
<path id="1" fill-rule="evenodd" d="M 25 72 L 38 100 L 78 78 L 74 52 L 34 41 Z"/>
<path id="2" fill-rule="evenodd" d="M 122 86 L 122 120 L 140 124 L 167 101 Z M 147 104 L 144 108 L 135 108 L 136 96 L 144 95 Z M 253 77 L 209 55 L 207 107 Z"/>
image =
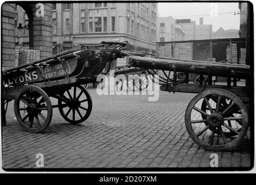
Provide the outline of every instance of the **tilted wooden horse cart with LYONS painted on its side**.
<path id="1" fill-rule="evenodd" d="M 26 131 L 44 131 L 51 122 L 52 108 L 59 108 L 69 123 L 85 121 L 92 110 L 92 99 L 81 84 L 96 81 L 107 62 L 116 60 L 127 43 L 102 42 L 81 46 L 39 61 L 2 72 L 2 124 L 8 102 L 15 99 L 15 116 Z M 52 105 L 51 99 L 57 99 Z"/>

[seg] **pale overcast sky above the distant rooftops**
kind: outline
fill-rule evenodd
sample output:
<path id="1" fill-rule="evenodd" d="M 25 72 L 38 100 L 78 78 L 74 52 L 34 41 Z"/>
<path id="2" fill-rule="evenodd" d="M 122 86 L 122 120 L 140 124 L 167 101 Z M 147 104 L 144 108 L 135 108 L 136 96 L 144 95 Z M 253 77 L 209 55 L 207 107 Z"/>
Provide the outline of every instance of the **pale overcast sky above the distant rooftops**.
<path id="1" fill-rule="evenodd" d="M 228 14 L 219 14 L 232 12 Z M 223 2 L 223 3 L 208 3 L 208 2 L 159 2 L 158 17 L 172 16 L 176 19 L 190 18 L 199 24 L 199 17 L 204 18 L 204 24 L 212 24 L 212 30 L 217 31 L 220 27 L 223 29 L 239 29 L 240 14 L 234 15 L 234 12 L 239 12 L 238 3 Z M 217 17 L 211 16 L 211 14 Z M 207 16 L 197 16 L 206 15 Z M 192 16 L 193 15 L 193 16 Z"/>

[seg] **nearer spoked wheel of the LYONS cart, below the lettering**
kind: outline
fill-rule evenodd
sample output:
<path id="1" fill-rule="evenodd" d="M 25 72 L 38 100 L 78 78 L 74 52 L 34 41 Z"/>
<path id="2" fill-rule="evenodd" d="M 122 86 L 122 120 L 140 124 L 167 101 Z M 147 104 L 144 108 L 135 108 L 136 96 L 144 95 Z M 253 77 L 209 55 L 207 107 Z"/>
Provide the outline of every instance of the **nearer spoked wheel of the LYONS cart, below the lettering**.
<path id="1" fill-rule="evenodd" d="M 18 123 L 26 131 L 39 133 L 48 127 L 52 119 L 52 103 L 42 88 L 24 87 L 14 103 Z"/>

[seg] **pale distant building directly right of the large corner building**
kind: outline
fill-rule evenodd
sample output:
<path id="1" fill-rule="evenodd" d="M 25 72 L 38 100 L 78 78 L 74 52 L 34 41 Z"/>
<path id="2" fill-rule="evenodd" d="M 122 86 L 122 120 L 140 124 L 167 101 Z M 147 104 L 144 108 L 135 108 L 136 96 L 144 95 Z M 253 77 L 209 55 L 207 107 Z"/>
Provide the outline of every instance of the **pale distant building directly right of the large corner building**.
<path id="1" fill-rule="evenodd" d="M 184 39 L 183 27 L 172 17 L 158 17 L 157 42 L 171 42 Z"/>

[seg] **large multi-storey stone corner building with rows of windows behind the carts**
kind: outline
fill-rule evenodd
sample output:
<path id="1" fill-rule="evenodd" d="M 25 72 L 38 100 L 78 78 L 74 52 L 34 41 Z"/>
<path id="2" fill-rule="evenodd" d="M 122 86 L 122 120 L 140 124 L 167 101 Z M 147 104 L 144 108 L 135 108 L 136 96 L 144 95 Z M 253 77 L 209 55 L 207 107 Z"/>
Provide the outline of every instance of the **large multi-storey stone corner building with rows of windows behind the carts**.
<path id="1" fill-rule="evenodd" d="M 53 3 L 52 9 L 53 53 L 103 40 L 128 40 L 135 50 L 156 53 L 157 3 Z M 27 24 L 21 10 L 19 23 Z M 28 41 L 26 28 L 17 38 L 19 44 Z M 117 65 L 124 65 L 124 60 Z"/>

